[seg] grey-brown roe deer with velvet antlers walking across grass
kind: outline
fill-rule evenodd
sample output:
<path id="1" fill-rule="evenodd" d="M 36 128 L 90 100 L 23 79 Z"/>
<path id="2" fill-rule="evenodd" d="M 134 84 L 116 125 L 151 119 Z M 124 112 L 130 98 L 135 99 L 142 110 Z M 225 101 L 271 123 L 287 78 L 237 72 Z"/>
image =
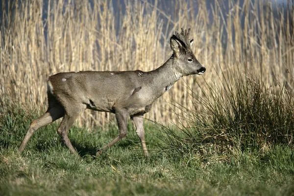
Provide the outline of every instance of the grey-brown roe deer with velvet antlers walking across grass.
<path id="1" fill-rule="evenodd" d="M 143 153 L 148 156 L 143 126 L 144 114 L 152 103 L 172 88 L 183 76 L 205 72 L 196 59 L 189 39 L 191 28 L 175 31 L 170 39 L 172 56 L 159 68 L 136 71 L 83 71 L 56 73 L 47 79 L 48 109 L 40 118 L 33 120 L 18 147 L 22 153 L 34 132 L 63 117 L 57 133 L 70 152 L 79 157 L 68 137 L 68 131 L 85 110 L 115 114 L 119 135 L 97 151 L 97 156 L 122 140 L 127 132 L 127 119 L 131 118 L 141 141 Z"/>

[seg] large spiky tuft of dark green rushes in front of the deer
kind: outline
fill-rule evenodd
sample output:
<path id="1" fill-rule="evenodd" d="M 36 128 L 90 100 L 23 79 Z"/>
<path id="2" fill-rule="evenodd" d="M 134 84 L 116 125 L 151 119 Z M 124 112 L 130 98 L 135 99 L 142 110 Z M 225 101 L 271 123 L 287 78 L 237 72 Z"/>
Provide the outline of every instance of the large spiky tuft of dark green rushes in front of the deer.
<path id="1" fill-rule="evenodd" d="M 170 157 L 185 156 L 187 164 L 190 159 L 230 162 L 246 151 L 294 147 L 294 96 L 278 80 L 267 85 L 259 76 L 228 68 L 213 85 L 198 87 L 201 96 L 190 91 L 193 107 L 177 105 L 186 112 L 178 115 L 180 123 L 161 125 L 161 148 Z"/>

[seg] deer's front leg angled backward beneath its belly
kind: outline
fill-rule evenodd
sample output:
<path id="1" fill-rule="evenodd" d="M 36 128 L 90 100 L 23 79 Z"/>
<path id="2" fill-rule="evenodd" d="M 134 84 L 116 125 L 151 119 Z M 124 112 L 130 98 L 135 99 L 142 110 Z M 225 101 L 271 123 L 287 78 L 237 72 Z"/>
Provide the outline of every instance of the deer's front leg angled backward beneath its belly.
<path id="1" fill-rule="evenodd" d="M 117 143 L 126 136 L 128 112 L 126 111 L 126 109 L 117 109 L 115 112 L 115 116 L 119 125 L 119 136 L 116 137 L 113 141 L 111 141 L 108 145 L 99 149 L 97 155 L 100 155 L 103 151 L 106 151 L 108 148 L 112 147 L 115 143 Z"/>

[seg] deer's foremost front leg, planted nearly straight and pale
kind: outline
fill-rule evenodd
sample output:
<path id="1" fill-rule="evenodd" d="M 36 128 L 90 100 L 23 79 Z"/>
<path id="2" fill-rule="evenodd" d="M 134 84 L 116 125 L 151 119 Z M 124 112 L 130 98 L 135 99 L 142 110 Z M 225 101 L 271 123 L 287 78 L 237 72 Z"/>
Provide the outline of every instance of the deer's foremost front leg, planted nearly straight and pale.
<path id="1" fill-rule="evenodd" d="M 135 125 L 136 133 L 141 140 L 141 145 L 143 148 L 144 155 L 148 156 L 148 151 L 147 151 L 146 142 L 145 142 L 145 130 L 144 130 L 144 125 L 143 125 L 143 120 L 144 120 L 143 115 L 132 116 L 131 119 Z"/>

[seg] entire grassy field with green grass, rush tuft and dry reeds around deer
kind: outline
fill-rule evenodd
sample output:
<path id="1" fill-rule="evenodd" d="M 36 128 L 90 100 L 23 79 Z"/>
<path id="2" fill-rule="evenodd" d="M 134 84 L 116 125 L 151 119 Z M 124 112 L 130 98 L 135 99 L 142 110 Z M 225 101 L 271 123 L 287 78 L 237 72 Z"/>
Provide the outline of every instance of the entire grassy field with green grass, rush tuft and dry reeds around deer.
<path id="1" fill-rule="evenodd" d="M 0 195 L 293 195 L 294 2 L 163 2 L 2 2 Z M 56 133 L 60 120 L 17 152 L 47 109 L 50 74 L 153 70 L 181 27 L 207 71 L 145 116 L 149 157 L 130 122 L 95 156 L 118 131 L 113 115 L 89 110 L 69 132 L 80 159 Z"/>

